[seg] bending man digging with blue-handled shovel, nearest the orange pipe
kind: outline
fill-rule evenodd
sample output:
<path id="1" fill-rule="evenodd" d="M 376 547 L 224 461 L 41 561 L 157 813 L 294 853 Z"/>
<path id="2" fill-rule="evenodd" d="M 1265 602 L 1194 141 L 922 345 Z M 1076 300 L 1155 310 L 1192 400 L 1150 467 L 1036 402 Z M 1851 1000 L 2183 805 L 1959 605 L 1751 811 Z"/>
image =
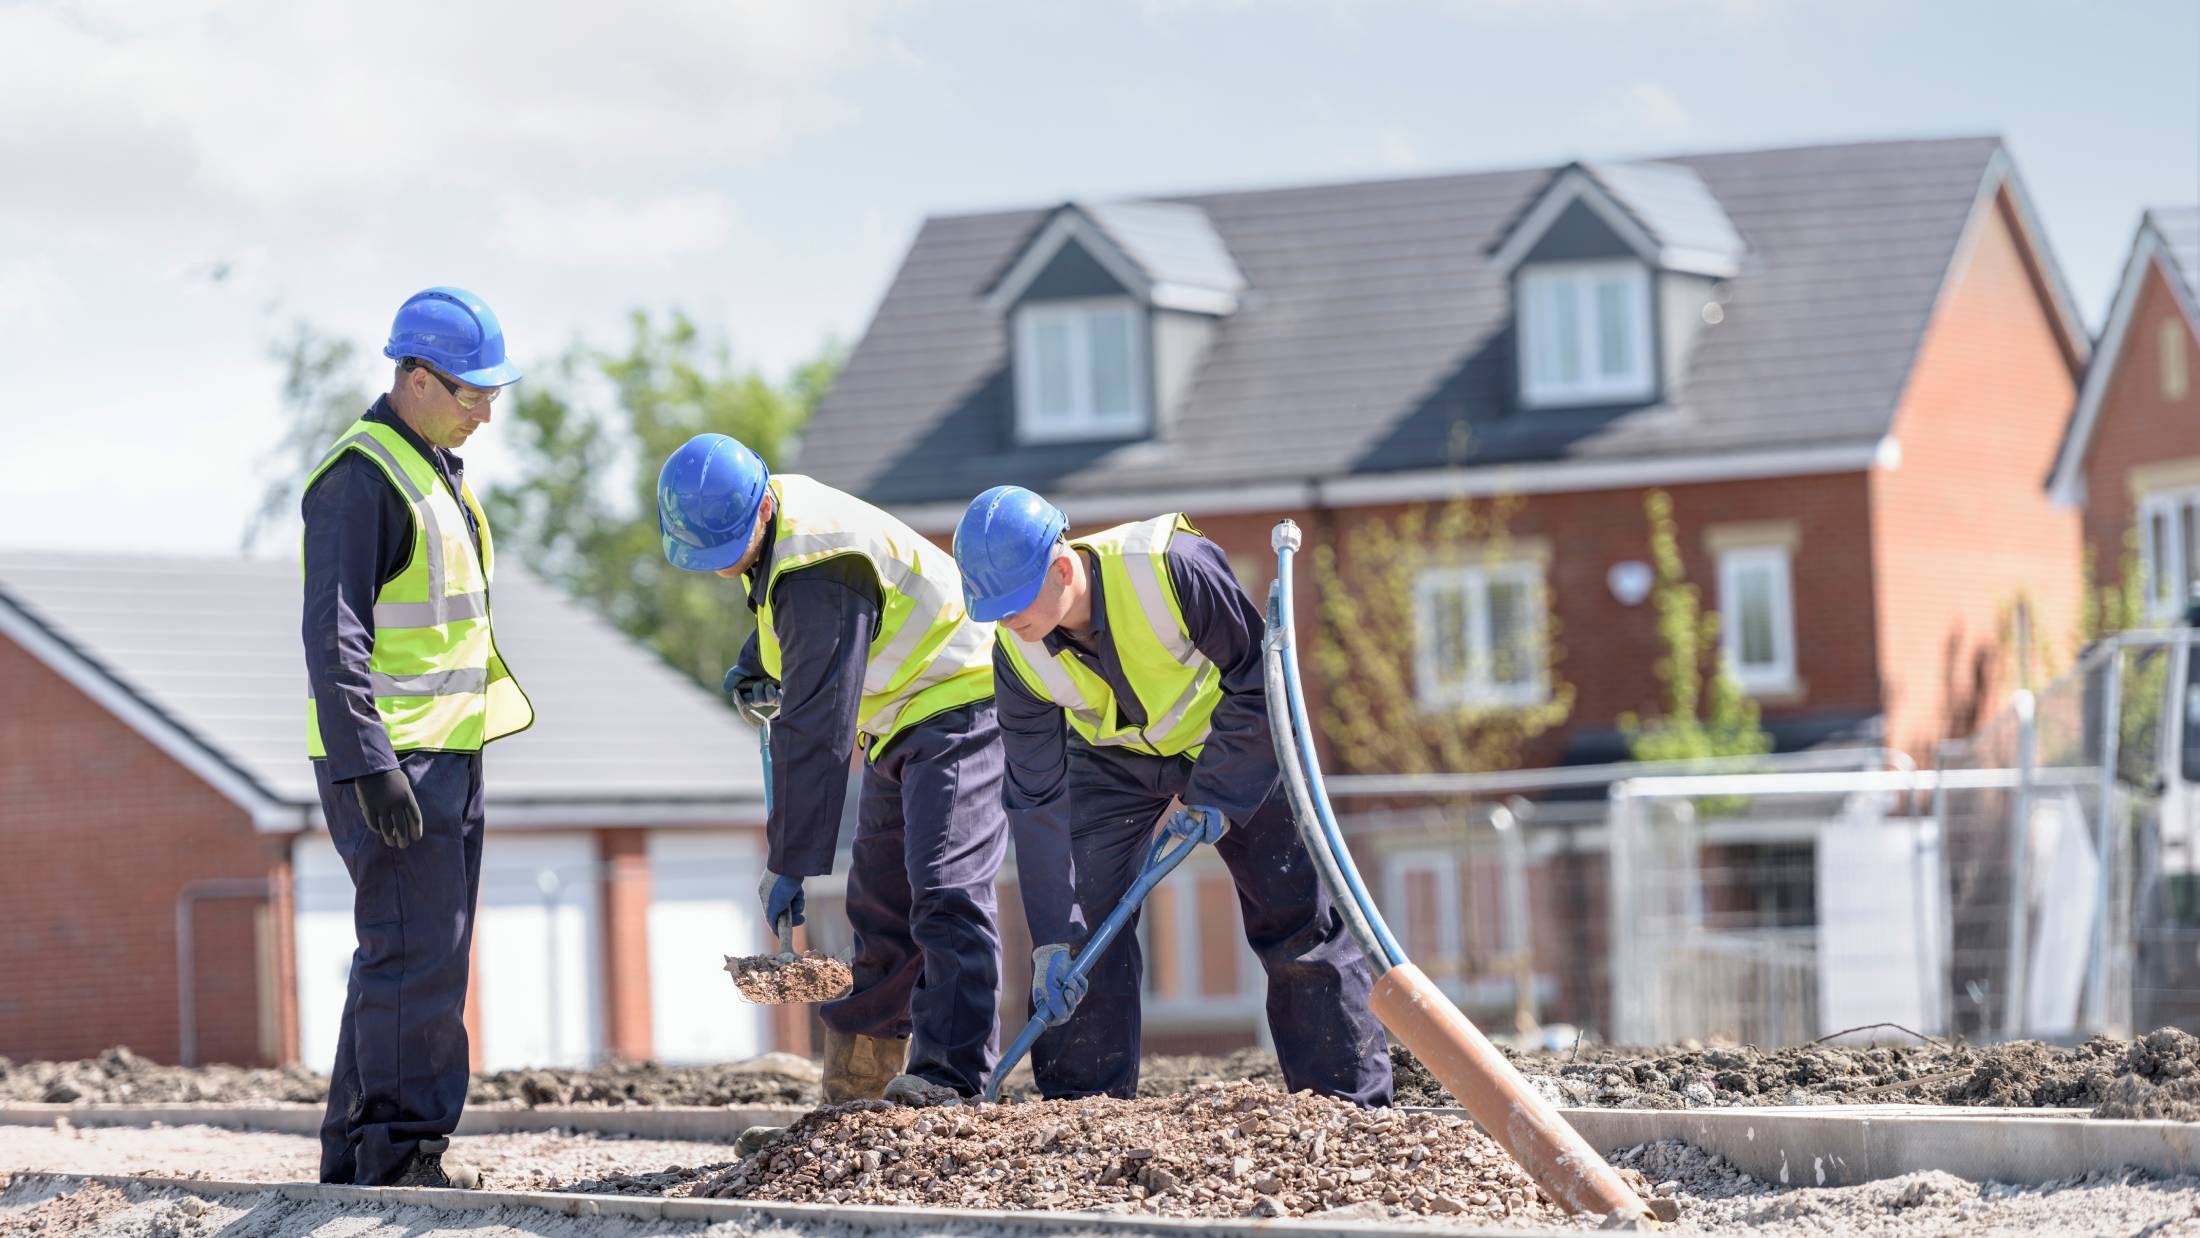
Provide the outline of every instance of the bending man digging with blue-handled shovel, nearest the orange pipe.
<path id="1" fill-rule="evenodd" d="M 1032 1014 L 1047 1023 L 1032 1047 L 1041 1095 L 1137 1095 L 1135 921 L 1087 976 L 1089 992 L 1069 965 L 1162 825 L 1212 842 L 1236 882 L 1285 1088 L 1390 1104 L 1368 963 L 1278 789 L 1258 607 L 1181 515 L 1080 539 L 1065 539 L 1067 523 L 1032 490 L 994 486 L 955 528 L 970 616 L 999 629 L 1008 814 L 1038 943 Z M 1170 800 L 1184 807 L 1170 814 Z"/>

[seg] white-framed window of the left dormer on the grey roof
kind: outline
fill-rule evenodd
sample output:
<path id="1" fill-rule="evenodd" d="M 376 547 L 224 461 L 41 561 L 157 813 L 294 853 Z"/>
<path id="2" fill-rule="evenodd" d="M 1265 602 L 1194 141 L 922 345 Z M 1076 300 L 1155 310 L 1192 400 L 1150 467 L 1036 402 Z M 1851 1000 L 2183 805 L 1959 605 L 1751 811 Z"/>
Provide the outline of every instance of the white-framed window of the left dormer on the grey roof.
<path id="1" fill-rule="evenodd" d="M 1135 438 L 1146 405 L 1146 314 L 1131 297 L 1016 308 L 1016 438 Z"/>

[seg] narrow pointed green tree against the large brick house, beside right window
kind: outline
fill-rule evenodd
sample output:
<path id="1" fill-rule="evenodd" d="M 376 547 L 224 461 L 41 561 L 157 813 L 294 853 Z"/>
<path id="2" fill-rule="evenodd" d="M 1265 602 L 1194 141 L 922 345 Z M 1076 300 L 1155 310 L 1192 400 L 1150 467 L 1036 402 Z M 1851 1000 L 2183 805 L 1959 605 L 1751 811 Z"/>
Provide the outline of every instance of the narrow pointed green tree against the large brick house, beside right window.
<path id="1" fill-rule="evenodd" d="M 1672 497 L 1665 490 L 1650 490 L 1643 512 L 1650 523 L 1650 565 L 1657 572 L 1650 600 L 1665 646 L 1657 660 L 1657 677 L 1665 686 L 1665 712 L 1652 719 L 1619 715 L 1628 750 L 1637 761 L 1771 752 L 1773 737 L 1760 726 L 1758 704 L 1742 695 L 1720 657 L 1718 616 L 1705 614 L 1703 594 L 1687 583 Z"/>

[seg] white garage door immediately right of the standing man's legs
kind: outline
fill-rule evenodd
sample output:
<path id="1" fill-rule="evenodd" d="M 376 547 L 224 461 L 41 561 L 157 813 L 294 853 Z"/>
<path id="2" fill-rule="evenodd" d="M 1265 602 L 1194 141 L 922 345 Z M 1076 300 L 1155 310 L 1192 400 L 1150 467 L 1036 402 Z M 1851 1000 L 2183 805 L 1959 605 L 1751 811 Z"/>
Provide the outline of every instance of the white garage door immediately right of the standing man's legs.
<path id="1" fill-rule="evenodd" d="M 592 833 L 488 831 L 473 932 L 482 1064 L 585 1066 L 603 1055 L 603 921 Z"/>

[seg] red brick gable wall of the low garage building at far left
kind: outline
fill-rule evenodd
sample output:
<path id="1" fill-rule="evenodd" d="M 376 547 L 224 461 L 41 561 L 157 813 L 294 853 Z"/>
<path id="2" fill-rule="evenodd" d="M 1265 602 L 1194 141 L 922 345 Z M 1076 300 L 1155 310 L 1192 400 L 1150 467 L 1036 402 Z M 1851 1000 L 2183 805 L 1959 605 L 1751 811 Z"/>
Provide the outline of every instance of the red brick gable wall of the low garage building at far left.
<path id="1" fill-rule="evenodd" d="M 172 1062 L 176 895 L 279 875 L 277 840 L 121 719 L 0 638 L 0 1053 L 84 1058 L 110 1044 Z M 198 1058 L 268 1062 L 246 902 L 198 906 Z M 277 924 L 271 939 L 288 937 Z M 282 974 L 282 959 L 271 959 Z M 288 1005 L 290 994 L 279 994 Z M 277 1007 L 279 1009 L 279 1007 Z M 282 1036 L 290 1016 L 277 1018 Z"/>

